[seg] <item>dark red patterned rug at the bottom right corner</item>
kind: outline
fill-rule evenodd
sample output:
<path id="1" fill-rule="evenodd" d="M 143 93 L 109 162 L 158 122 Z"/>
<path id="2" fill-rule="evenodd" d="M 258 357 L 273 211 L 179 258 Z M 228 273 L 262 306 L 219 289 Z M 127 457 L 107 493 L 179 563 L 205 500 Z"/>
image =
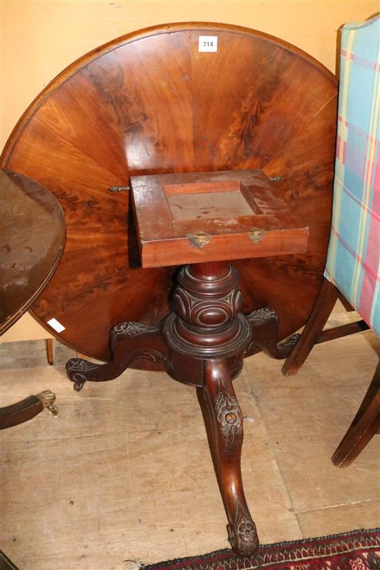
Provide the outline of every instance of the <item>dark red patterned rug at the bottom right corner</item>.
<path id="1" fill-rule="evenodd" d="M 264 544 L 245 558 L 231 550 L 178 558 L 143 570 L 380 570 L 380 529 Z"/>

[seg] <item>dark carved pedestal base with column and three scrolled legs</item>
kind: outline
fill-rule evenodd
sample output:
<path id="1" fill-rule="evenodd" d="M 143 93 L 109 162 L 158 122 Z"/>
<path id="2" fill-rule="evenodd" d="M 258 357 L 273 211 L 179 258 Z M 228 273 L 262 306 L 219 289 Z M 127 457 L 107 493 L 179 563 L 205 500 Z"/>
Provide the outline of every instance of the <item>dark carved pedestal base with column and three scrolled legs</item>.
<path id="1" fill-rule="evenodd" d="M 270 307 L 243 315 L 238 282 L 238 272 L 226 262 L 185 265 L 173 294 L 174 311 L 161 327 L 119 323 L 111 330 L 111 361 L 99 365 L 72 359 L 66 368 L 75 390 L 86 381 L 112 380 L 137 359 L 150 359 L 173 379 L 196 386 L 229 542 L 236 553 L 249 555 L 258 547 L 258 536 L 243 490 L 243 415 L 232 380 L 245 353 L 256 348 L 285 358 L 297 335 L 278 344 L 278 318 Z"/>

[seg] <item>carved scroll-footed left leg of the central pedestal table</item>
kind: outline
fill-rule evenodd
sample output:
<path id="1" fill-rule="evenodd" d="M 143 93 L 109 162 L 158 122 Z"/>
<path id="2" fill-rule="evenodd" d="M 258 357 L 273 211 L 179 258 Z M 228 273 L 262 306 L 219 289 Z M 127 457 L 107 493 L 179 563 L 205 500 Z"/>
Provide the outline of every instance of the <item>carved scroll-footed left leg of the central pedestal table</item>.
<path id="1" fill-rule="evenodd" d="M 111 360 L 106 364 L 96 364 L 84 359 L 70 359 L 66 363 L 69 379 L 74 382 L 74 390 L 82 390 L 86 381 L 105 382 L 120 376 L 137 359 L 149 359 L 164 370 L 166 346 L 160 329 L 133 323 L 118 323 L 111 330 Z"/>

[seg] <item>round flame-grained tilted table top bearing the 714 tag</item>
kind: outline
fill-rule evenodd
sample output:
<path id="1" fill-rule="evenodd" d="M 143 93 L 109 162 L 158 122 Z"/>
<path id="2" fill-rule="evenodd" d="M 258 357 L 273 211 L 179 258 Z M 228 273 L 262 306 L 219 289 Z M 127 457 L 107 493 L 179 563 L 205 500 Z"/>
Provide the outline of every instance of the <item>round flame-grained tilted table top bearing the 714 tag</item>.
<path id="1" fill-rule="evenodd" d="M 216 52 L 200 36 L 218 37 Z M 167 313 L 175 268 L 142 269 L 131 175 L 263 169 L 278 176 L 305 254 L 235 261 L 245 312 L 271 305 L 281 338 L 301 327 L 321 285 L 330 230 L 336 79 L 298 48 L 216 23 L 156 26 L 93 50 L 66 68 L 15 127 L 1 167 L 45 184 L 64 209 L 66 249 L 32 305 L 59 338 L 108 359 L 120 321 Z M 55 334 L 54 330 L 49 331 Z M 143 363 L 149 366 L 149 363 Z"/>

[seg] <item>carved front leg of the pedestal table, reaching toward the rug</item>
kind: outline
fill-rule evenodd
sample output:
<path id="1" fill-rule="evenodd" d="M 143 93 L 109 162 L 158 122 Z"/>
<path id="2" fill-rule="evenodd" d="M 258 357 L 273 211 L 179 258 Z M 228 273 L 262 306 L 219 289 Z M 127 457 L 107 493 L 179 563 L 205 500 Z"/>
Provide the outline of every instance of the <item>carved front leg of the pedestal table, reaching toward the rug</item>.
<path id="1" fill-rule="evenodd" d="M 258 536 L 245 500 L 240 470 L 243 415 L 225 363 L 205 363 L 205 386 L 198 388 L 197 394 L 229 521 L 229 542 L 236 553 L 249 555 L 258 547 Z"/>

